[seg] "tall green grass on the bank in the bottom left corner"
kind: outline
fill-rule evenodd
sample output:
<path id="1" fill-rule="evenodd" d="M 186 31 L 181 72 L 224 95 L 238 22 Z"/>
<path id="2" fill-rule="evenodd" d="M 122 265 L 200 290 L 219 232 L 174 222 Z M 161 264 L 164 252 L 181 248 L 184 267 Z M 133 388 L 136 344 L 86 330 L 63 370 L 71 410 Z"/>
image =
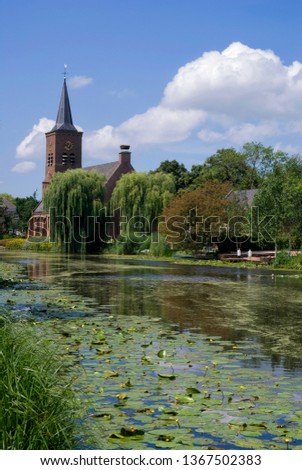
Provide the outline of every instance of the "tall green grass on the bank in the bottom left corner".
<path id="1" fill-rule="evenodd" d="M 0 449 L 70 449 L 74 398 L 53 349 L 0 317 Z"/>

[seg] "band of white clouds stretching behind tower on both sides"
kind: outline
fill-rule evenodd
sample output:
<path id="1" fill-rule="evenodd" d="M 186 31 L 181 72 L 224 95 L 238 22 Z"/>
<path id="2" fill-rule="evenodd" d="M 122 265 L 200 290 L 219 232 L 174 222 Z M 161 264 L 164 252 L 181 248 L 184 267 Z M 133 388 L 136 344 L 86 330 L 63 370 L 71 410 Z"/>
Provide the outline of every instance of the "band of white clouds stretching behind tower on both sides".
<path id="1" fill-rule="evenodd" d="M 200 149 L 211 143 L 217 148 L 261 139 L 288 145 L 302 132 L 301 109 L 302 64 L 286 66 L 271 50 L 234 42 L 181 67 L 161 101 L 144 113 L 119 126 L 84 133 L 84 153 L 100 160 L 112 158 L 120 144 L 137 149 L 185 143 L 191 137 L 199 139 Z M 38 145 L 42 149 L 43 123 L 40 120 L 21 142 L 17 156 L 33 156 Z"/>

